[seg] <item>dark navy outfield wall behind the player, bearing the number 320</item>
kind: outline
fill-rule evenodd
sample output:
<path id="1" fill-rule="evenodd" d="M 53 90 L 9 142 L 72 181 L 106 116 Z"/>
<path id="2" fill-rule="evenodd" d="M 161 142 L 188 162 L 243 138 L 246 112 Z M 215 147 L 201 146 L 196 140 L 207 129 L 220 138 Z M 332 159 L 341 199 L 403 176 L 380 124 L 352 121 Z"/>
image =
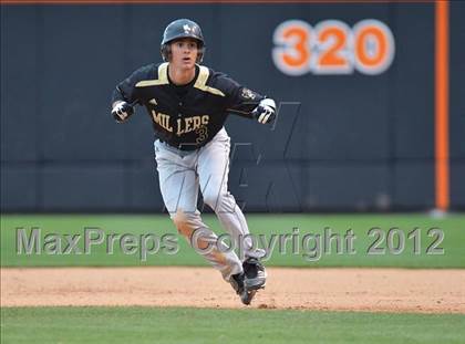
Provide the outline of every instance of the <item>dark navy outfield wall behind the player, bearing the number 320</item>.
<path id="1" fill-rule="evenodd" d="M 204 30 L 206 65 L 282 102 L 275 131 L 227 122 L 229 186 L 246 210 L 435 206 L 434 3 L 0 9 L 2 211 L 163 210 L 149 118 L 138 110 L 116 125 L 108 103 L 120 80 L 159 61 L 163 29 L 184 17 Z M 453 1 L 454 209 L 465 208 L 464 15 Z M 277 49 L 286 40 L 301 45 Z"/>

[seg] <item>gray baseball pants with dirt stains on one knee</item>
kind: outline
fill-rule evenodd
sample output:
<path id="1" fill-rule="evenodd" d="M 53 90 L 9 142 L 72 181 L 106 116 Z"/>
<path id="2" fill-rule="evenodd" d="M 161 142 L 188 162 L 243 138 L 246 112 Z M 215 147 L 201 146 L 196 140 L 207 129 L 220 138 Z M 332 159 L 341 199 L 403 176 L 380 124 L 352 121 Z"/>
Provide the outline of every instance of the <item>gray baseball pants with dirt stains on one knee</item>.
<path id="1" fill-rule="evenodd" d="M 207 145 L 193 152 L 179 150 L 159 140 L 155 140 L 154 146 L 165 207 L 190 246 L 219 270 L 226 281 L 242 271 L 236 252 L 224 241 L 218 242 L 217 234 L 203 222 L 197 209 L 200 190 L 204 202 L 215 211 L 236 248 L 242 248 L 244 257 L 264 257 L 265 251 L 255 248 L 247 236 L 246 218 L 228 191 L 230 138 L 226 129 L 221 128 Z"/>

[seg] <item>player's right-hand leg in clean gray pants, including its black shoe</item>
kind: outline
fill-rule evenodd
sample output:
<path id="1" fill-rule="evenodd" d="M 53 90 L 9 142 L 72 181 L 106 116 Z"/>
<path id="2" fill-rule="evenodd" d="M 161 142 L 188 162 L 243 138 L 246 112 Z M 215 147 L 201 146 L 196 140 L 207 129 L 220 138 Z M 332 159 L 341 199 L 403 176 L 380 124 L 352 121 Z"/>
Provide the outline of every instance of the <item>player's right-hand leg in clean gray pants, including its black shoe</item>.
<path id="1" fill-rule="evenodd" d="M 266 283 L 266 271 L 259 261 L 265 251 L 254 244 L 246 218 L 228 191 L 229 149 L 230 140 L 225 129 L 200 149 L 197 166 L 200 190 L 205 204 L 215 210 L 221 226 L 241 249 L 246 286 L 258 289 Z"/>

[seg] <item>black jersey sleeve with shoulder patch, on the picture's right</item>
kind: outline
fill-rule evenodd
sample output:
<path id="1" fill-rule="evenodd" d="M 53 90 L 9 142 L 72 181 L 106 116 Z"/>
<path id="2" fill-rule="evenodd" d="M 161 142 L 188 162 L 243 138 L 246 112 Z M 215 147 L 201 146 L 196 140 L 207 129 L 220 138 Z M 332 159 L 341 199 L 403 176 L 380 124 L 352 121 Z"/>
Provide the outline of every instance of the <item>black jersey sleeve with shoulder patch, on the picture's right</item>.
<path id="1" fill-rule="evenodd" d="M 240 85 L 226 75 L 221 75 L 220 80 L 220 83 L 226 91 L 226 111 L 231 114 L 251 118 L 251 112 L 265 96 Z"/>

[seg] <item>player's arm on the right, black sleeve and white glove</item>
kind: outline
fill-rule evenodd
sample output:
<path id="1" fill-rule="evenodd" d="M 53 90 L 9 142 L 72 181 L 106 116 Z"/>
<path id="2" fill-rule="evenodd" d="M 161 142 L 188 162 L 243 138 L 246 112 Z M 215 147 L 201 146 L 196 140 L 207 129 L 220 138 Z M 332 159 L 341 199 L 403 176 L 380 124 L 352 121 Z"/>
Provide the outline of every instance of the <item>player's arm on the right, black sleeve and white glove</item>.
<path id="1" fill-rule="evenodd" d="M 239 85 L 231 79 L 224 77 L 227 85 L 228 105 L 226 111 L 259 123 L 272 123 L 276 118 L 276 103 L 272 98 Z"/>

